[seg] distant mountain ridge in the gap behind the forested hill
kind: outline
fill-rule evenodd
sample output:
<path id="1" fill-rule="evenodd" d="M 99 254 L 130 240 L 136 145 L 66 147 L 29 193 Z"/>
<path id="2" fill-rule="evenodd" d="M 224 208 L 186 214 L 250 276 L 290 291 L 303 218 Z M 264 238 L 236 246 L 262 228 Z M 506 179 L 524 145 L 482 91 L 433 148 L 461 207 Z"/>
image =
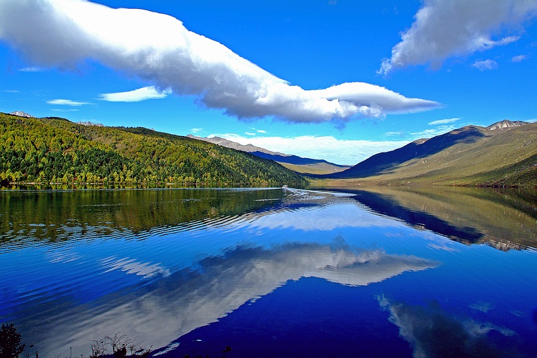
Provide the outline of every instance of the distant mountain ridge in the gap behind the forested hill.
<path id="1" fill-rule="evenodd" d="M 227 148 L 233 148 L 236 150 L 242 150 L 243 152 L 248 152 L 257 157 L 264 159 L 270 159 L 277 161 L 286 168 L 294 170 L 302 174 L 328 174 L 333 172 L 340 172 L 349 168 L 349 166 L 340 166 L 338 164 L 330 163 L 329 161 L 323 159 L 310 159 L 299 157 L 297 155 L 288 155 L 283 153 L 272 152 L 264 148 L 253 146 L 252 144 L 247 144 L 246 146 L 232 142 L 231 140 L 220 138 L 220 137 L 196 137 L 194 135 L 187 135 L 189 138 L 203 140 L 205 142 L 210 142 L 213 144 L 218 144 L 219 146 L 224 146 Z"/>

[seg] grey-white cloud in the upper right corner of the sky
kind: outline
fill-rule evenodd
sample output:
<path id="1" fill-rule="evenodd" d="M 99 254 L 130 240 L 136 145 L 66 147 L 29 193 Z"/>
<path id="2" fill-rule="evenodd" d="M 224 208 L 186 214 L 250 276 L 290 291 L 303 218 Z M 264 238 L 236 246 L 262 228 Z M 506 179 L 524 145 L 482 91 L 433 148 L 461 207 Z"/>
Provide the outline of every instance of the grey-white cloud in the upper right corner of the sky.
<path id="1" fill-rule="evenodd" d="M 401 34 L 401 42 L 378 72 L 388 74 L 409 65 L 438 67 L 452 56 L 507 45 L 520 36 L 505 32 L 520 29 L 523 21 L 536 15 L 536 1 L 424 0 L 412 27 Z"/>

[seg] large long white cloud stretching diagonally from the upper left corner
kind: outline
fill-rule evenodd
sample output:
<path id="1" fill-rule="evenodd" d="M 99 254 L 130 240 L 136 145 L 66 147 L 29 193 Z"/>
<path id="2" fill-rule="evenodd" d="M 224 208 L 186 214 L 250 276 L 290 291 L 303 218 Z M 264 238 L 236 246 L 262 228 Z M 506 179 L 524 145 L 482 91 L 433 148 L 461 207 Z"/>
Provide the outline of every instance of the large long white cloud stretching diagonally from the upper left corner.
<path id="1" fill-rule="evenodd" d="M 171 16 L 83 0 L 0 1 L 0 38 L 41 66 L 76 67 L 91 58 L 238 118 L 345 122 L 439 107 L 366 83 L 308 91 Z"/>

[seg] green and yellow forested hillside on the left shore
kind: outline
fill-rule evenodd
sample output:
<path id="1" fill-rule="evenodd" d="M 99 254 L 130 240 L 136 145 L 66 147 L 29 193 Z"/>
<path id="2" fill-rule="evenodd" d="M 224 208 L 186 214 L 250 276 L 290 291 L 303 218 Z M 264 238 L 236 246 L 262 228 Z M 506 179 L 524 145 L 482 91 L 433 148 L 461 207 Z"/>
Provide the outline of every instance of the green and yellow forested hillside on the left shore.
<path id="1" fill-rule="evenodd" d="M 275 161 L 147 128 L 0 113 L 0 181 L 77 185 L 304 186 Z"/>

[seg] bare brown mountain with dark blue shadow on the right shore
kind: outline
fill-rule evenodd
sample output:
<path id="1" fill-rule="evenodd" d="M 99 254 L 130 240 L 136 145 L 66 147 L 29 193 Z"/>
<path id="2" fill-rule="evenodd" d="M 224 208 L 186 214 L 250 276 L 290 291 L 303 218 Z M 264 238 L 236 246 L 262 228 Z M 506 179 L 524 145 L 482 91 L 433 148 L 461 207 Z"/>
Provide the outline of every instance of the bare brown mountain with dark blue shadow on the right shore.
<path id="1" fill-rule="evenodd" d="M 325 177 L 394 185 L 537 186 L 537 123 L 465 126 Z"/>

